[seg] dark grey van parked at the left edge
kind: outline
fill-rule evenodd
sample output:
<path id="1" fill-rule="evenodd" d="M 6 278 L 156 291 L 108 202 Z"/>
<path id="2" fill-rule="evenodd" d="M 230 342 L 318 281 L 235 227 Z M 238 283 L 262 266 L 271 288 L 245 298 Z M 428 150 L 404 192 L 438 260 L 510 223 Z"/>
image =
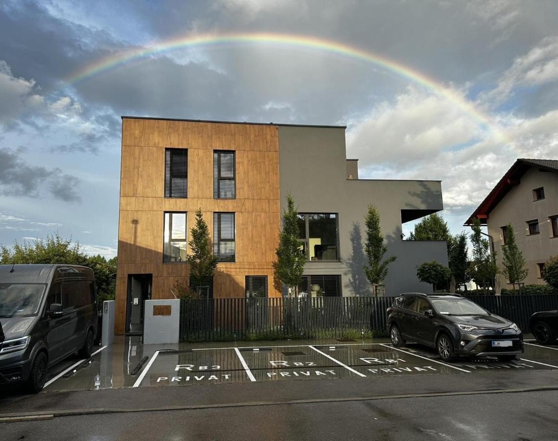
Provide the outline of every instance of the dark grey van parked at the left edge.
<path id="1" fill-rule="evenodd" d="M 88 358 L 97 333 L 93 270 L 75 265 L 0 265 L 0 385 L 45 385 L 47 369 L 78 351 Z"/>

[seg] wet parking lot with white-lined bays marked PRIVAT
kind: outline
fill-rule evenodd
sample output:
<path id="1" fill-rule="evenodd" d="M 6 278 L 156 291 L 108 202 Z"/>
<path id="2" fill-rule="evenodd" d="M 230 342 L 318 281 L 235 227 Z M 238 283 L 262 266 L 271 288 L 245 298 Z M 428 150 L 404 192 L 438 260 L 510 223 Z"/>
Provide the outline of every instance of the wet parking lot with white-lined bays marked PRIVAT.
<path id="1" fill-rule="evenodd" d="M 51 369 L 49 391 L 122 387 L 217 385 L 242 382 L 334 380 L 413 375 L 475 375 L 558 369 L 558 347 L 525 342 L 521 359 L 461 358 L 444 363 L 420 345 L 393 348 L 387 340 L 328 340 L 273 345 L 142 345 L 122 339 L 88 360 L 68 359 Z M 296 344 L 295 344 L 296 343 Z M 307 344 L 302 344 L 307 343 Z"/>

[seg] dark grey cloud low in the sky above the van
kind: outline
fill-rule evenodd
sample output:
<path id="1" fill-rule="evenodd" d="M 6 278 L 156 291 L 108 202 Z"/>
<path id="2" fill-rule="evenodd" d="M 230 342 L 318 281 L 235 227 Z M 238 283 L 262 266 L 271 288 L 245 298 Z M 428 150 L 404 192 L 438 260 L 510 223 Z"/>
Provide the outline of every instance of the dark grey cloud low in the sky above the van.
<path id="1" fill-rule="evenodd" d="M 22 149 L 0 148 L 0 193 L 6 196 L 39 197 L 46 187 L 56 199 L 79 201 L 79 179 L 60 168 L 30 165 L 21 158 Z"/>

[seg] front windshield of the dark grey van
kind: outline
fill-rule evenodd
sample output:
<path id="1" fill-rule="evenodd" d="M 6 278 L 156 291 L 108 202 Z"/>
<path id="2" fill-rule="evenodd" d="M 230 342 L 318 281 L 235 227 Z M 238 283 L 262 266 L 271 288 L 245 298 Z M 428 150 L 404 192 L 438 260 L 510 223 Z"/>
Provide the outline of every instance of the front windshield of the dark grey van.
<path id="1" fill-rule="evenodd" d="M 39 312 L 45 285 L 0 283 L 0 317 L 32 317 Z"/>

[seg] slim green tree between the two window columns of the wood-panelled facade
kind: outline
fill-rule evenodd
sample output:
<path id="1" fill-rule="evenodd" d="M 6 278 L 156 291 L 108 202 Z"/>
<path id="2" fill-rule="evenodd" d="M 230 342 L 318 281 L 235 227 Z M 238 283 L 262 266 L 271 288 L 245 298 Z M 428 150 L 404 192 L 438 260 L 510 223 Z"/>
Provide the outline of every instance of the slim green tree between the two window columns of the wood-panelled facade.
<path id="1" fill-rule="evenodd" d="M 201 208 L 196 210 L 196 222 L 190 235 L 190 254 L 186 257 L 190 264 L 190 282 L 193 286 L 200 286 L 204 280 L 213 277 L 217 268 L 217 256 L 213 254 L 208 224 L 205 223 Z"/>

